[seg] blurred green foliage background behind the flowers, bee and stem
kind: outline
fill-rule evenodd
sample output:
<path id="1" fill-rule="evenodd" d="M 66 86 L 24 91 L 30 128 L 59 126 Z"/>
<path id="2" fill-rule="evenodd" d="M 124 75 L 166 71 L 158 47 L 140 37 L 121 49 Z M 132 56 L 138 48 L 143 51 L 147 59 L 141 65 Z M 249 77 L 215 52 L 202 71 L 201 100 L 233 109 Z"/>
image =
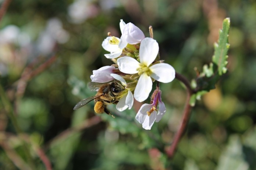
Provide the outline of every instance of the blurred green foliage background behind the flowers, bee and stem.
<path id="1" fill-rule="evenodd" d="M 172 159 L 164 148 L 186 99 L 177 80 L 160 85 L 167 111 L 150 131 L 134 109 L 110 106 L 115 119 L 95 116 L 93 102 L 73 110 L 95 95 L 92 70 L 112 64 L 101 44 L 107 32 L 120 37 L 120 19 L 146 37 L 152 25 L 161 59 L 192 80 L 226 17 L 228 73 L 193 107 Z M 13 0 L 0 22 L 0 169 L 43 170 L 49 160 L 54 170 L 254 170 L 255 75 L 255 0 Z"/>

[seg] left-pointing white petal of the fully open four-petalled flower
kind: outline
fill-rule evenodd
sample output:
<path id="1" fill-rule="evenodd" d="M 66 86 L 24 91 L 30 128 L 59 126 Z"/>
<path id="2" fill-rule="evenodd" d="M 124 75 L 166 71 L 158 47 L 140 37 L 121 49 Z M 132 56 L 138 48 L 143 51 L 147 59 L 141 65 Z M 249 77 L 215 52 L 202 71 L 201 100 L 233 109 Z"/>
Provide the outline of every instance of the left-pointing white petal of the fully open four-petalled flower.
<path id="1" fill-rule="evenodd" d="M 139 62 L 131 57 L 121 57 L 117 59 L 117 65 L 120 71 L 126 74 L 138 73 Z"/>

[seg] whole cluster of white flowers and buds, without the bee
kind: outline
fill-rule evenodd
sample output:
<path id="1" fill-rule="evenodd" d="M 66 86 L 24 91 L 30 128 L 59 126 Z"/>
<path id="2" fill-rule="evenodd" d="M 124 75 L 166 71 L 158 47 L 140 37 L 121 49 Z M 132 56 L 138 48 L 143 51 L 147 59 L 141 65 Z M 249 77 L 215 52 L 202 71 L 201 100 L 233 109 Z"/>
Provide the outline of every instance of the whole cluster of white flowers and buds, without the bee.
<path id="1" fill-rule="evenodd" d="M 161 101 L 159 82 L 174 80 L 175 70 L 170 64 L 159 60 L 159 45 L 156 40 L 145 37 L 134 24 L 120 22 L 122 36 L 114 37 L 109 33 L 102 42 L 102 47 L 110 53 L 112 66 L 104 66 L 93 71 L 92 82 L 106 83 L 120 81 L 124 91 L 118 96 L 117 110 L 131 109 L 135 100 L 145 101 L 152 91 L 152 84 L 157 81 L 156 90 L 151 97 L 151 104 L 143 104 L 136 115 L 136 120 L 144 129 L 151 129 L 153 123 L 160 121 L 166 112 Z"/>

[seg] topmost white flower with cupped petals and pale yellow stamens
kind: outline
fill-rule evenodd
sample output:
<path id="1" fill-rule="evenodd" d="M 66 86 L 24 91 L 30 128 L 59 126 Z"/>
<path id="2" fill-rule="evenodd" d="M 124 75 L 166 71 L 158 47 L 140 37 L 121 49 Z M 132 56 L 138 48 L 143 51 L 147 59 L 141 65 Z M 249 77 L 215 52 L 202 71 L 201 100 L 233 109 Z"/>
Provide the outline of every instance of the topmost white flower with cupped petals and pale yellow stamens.
<path id="1" fill-rule="evenodd" d="M 107 37 L 102 42 L 102 47 L 109 51 L 110 54 L 105 54 L 106 58 L 113 59 L 121 55 L 122 50 L 127 46 L 127 44 L 137 44 L 145 38 L 143 32 L 136 27 L 133 23 L 125 24 L 124 21 L 120 21 L 120 30 L 122 33 L 121 38 L 117 37 Z"/>

